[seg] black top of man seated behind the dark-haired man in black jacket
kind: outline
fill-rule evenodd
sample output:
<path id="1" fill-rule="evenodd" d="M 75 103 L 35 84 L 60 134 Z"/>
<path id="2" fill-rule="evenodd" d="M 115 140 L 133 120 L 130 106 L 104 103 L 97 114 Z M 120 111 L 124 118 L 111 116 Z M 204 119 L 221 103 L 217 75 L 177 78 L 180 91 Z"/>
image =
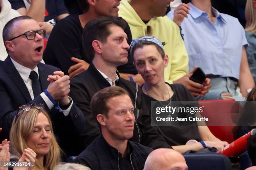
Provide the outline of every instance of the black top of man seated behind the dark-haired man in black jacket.
<path id="1" fill-rule="evenodd" d="M 60 68 L 65 75 L 68 75 L 69 67 L 77 64 L 71 60 L 72 57 L 90 63 L 90 59 L 86 56 L 82 47 L 82 33 L 83 28 L 78 15 L 69 15 L 60 20 L 51 31 L 51 36 L 43 54 L 44 62 Z M 125 33 L 128 36 L 128 44 L 131 44 L 132 36 L 128 24 Z M 133 65 L 130 50 L 128 50 L 128 63 L 117 67 L 117 70 L 121 73 L 133 75 L 138 73 Z"/>

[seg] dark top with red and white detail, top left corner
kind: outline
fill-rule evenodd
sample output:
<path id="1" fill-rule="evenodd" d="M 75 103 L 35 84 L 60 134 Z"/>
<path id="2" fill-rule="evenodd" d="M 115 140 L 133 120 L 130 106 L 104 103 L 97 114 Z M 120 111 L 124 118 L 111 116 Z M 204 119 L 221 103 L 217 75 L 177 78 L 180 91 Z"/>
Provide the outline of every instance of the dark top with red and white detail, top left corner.
<path id="1" fill-rule="evenodd" d="M 26 1 L 27 3 L 31 4 L 31 0 Z M 23 0 L 9 0 L 9 2 L 14 10 L 18 10 L 21 7 L 26 8 L 26 5 Z M 64 5 L 63 0 L 46 0 L 45 7 L 46 9 L 44 21 L 52 25 L 55 25 L 57 16 L 69 13 L 69 11 Z"/>

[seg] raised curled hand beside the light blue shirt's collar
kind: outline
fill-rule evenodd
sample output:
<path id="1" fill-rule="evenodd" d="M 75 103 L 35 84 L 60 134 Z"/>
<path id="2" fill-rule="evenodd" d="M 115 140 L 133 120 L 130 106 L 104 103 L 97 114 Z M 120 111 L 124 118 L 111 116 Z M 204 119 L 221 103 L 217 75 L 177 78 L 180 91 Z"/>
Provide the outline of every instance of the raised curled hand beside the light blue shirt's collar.
<path id="1" fill-rule="evenodd" d="M 176 7 L 173 14 L 174 23 L 180 26 L 184 18 L 187 18 L 187 15 L 189 14 L 190 9 L 191 8 L 189 7 L 189 5 L 185 3 L 182 3 L 178 7 Z"/>

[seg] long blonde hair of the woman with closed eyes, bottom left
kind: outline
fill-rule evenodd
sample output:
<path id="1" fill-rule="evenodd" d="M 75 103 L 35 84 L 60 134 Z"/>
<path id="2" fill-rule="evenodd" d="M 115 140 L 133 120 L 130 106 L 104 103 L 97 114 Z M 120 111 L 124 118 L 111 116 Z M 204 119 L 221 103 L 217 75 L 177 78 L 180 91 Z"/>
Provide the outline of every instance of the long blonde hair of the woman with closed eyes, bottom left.
<path id="1" fill-rule="evenodd" d="M 43 113 L 49 120 L 49 124 L 51 126 L 52 141 L 49 153 L 44 156 L 44 165 L 42 165 L 38 159 L 36 159 L 33 170 L 42 170 L 44 168 L 47 170 L 53 170 L 56 165 L 59 164 L 61 150 L 54 136 L 50 117 L 45 110 L 33 107 L 29 111 L 23 111 L 18 114 L 13 120 L 13 124 L 10 130 L 10 145 L 12 152 L 18 157 L 21 157 L 24 149 L 28 148 L 28 136 L 33 132 L 36 124 L 36 117 L 39 113 Z"/>

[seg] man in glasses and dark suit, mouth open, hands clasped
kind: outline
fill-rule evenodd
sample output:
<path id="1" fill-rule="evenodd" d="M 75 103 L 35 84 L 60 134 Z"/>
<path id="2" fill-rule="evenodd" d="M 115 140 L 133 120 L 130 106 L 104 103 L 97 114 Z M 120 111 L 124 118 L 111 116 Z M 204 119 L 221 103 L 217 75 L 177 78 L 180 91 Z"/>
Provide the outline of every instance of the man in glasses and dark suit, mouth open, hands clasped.
<path id="1" fill-rule="evenodd" d="M 69 140 L 82 131 L 85 119 L 67 96 L 69 76 L 40 62 L 45 35 L 45 30 L 28 16 L 10 20 L 3 29 L 8 57 L 0 62 L 0 127 L 4 129 L 0 141 L 8 138 L 20 105 L 44 103 L 59 145 L 69 155 Z"/>

